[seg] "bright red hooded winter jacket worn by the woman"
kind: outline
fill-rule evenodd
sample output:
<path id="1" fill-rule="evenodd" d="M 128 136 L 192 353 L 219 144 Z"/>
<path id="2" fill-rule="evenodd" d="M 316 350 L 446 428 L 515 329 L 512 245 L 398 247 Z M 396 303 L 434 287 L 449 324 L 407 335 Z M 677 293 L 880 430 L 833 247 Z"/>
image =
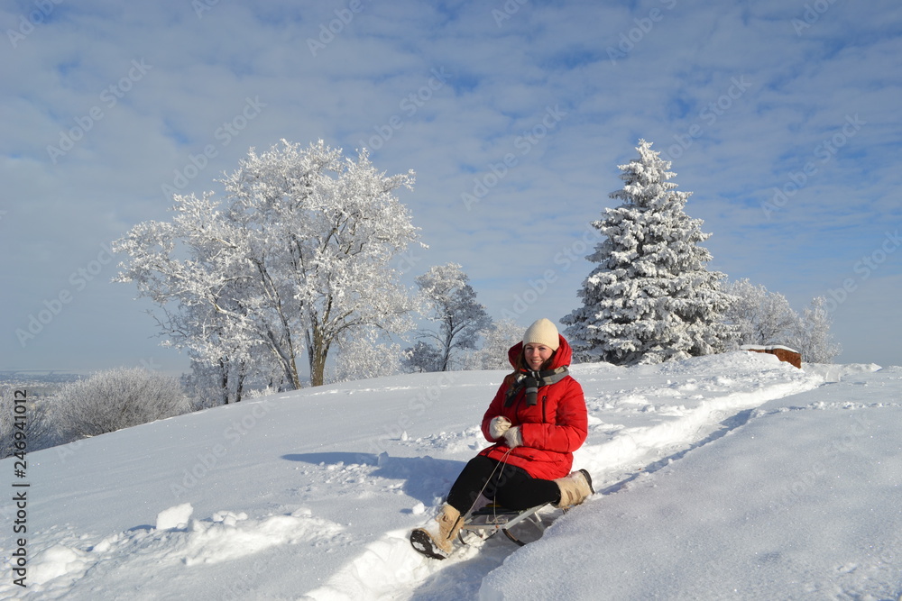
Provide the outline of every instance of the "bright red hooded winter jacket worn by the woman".
<path id="1" fill-rule="evenodd" d="M 559 334 L 558 338 L 560 347 L 549 369 L 569 366 L 573 355 L 566 339 Z M 522 342 L 508 351 L 508 359 L 514 368 L 522 351 Z M 495 460 L 504 459 L 504 453 L 509 450 L 507 442 L 503 438 L 493 439 L 489 433 L 492 418 L 503 415 L 511 420 L 511 427 L 520 426 L 523 438 L 522 446 L 515 447 L 504 461 L 526 469 L 533 478 L 565 477 L 573 466 L 573 451 L 583 445 L 588 431 L 583 387 L 574 378 L 566 376 L 555 384 L 540 387 L 536 405 L 527 405 L 525 391 L 520 390 L 511 406 L 506 407 L 504 400 L 508 387 L 505 381 L 483 415 L 483 436 L 495 444 L 479 454 Z"/>

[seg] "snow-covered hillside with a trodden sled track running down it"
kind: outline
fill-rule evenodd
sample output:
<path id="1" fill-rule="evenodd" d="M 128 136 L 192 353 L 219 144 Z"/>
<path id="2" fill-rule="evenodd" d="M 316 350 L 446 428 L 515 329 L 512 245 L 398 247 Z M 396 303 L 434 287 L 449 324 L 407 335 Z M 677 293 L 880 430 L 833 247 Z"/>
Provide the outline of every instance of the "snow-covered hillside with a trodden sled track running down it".
<path id="1" fill-rule="evenodd" d="M 572 371 L 599 494 L 526 547 L 410 549 L 504 372 L 408 375 L 34 452 L 24 478 L 0 461 L 0 597 L 900 598 L 902 368 L 741 351 Z"/>

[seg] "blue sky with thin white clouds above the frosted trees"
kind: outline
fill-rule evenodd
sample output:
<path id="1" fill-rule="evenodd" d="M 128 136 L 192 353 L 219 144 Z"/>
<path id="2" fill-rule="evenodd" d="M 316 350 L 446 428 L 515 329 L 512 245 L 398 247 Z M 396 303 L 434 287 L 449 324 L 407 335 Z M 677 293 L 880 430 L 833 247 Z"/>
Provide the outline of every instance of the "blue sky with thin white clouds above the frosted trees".
<path id="1" fill-rule="evenodd" d="M 413 169 L 404 281 L 456 262 L 524 327 L 579 306 L 651 141 L 709 269 L 824 296 L 838 362 L 902 364 L 892 0 L 42 0 L 0 24 L 0 370 L 187 369 L 110 244 L 281 139 Z"/>

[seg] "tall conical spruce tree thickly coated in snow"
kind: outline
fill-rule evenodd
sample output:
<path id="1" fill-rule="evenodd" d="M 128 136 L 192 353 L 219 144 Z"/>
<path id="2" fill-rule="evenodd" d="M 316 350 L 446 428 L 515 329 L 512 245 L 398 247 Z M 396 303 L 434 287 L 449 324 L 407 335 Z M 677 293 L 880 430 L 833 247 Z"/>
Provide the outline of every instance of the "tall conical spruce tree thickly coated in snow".
<path id="1" fill-rule="evenodd" d="M 623 187 L 593 223 L 605 237 L 586 259 L 598 263 L 584 280 L 583 306 L 561 323 L 583 361 L 659 363 L 722 351 L 732 337 L 723 311 L 732 302 L 706 269 L 699 242 L 710 234 L 684 213 L 691 193 L 669 182 L 670 161 L 640 140 L 639 159 L 621 165 Z"/>

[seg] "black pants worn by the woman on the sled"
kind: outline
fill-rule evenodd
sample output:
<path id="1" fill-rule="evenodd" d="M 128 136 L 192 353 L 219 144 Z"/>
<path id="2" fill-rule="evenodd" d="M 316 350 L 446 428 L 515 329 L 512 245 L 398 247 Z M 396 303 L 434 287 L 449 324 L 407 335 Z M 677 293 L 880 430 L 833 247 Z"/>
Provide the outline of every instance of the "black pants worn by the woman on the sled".
<path id="1" fill-rule="evenodd" d="M 553 480 L 533 478 L 525 469 L 477 455 L 460 472 L 448 492 L 447 503 L 465 514 L 480 491 L 486 498 L 509 509 L 529 509 L 560 502 L 560 488 Z"/>

